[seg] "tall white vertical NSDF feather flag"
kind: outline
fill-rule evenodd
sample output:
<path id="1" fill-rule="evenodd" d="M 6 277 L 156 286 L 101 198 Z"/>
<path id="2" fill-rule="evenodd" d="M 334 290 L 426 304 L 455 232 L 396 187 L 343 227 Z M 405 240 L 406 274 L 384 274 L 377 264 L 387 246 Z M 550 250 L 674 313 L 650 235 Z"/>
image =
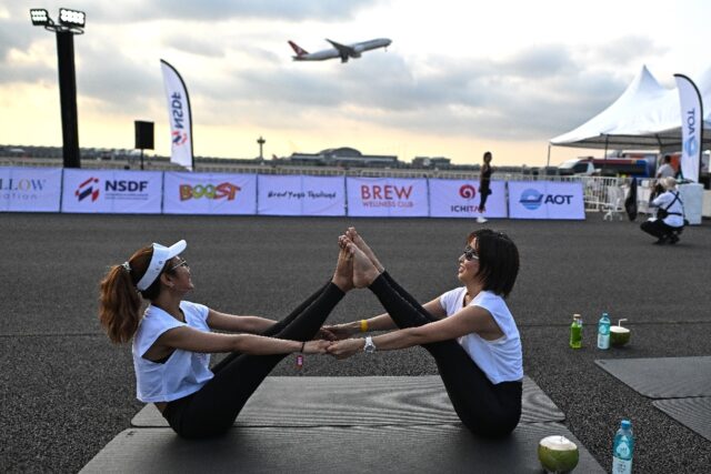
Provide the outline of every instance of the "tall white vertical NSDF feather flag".
<path id="1" fill-rule="evenodd" d="M 188 88 L 176 68 L 162 59 L 160 67 L 163 71 L 163 85 L 168 100 L 168 120 L 172 142 L 170 161 L 192 171 L 192 114 Z"/>

